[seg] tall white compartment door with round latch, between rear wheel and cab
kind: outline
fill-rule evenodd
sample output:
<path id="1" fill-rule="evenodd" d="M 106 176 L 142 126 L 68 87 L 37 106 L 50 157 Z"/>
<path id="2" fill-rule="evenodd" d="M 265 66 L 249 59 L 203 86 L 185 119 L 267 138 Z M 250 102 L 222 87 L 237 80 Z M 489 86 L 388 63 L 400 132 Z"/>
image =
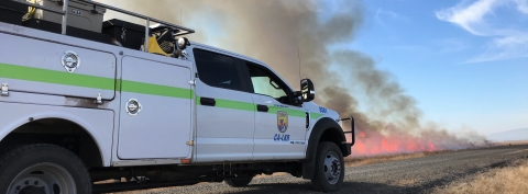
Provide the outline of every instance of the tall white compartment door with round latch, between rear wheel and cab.
<path id="1" fill-rule="evenodd" d="M 122 59 L 120 159 L 189 158 L 193 64 Z"/>

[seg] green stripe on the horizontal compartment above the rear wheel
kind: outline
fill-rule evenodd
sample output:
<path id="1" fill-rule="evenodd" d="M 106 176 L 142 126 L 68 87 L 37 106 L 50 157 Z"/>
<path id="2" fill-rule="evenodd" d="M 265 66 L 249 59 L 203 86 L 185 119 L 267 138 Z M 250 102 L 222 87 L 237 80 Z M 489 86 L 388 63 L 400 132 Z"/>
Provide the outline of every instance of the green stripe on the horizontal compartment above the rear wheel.
<path id="1" fill-rule="evenodd" d="M 92 89 L 114 90 L 114 80 L 88 75 L 76 75 L 25 66 L 0 64 L 0 77 Z"/>

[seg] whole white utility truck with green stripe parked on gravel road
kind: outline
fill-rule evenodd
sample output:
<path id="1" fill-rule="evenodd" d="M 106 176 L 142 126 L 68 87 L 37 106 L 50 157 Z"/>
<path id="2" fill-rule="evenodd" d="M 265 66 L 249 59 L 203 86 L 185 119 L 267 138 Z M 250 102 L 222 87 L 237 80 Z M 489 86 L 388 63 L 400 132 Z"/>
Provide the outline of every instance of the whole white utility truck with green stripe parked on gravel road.
<path id="1" fill-rule="evenodd" d="M 311 80 L 295 91 L 262 61 L 183 37 L 193 30 L 73 2 L 145 19 L 145 36 L 116 38 L 65 20 L 58 33 L 58 23 L 19 23 L 0 9 L 0 193 L 245 186 L 274 172 L 318 191 L 341 187 L 353 119 L 311 102 Z"/>

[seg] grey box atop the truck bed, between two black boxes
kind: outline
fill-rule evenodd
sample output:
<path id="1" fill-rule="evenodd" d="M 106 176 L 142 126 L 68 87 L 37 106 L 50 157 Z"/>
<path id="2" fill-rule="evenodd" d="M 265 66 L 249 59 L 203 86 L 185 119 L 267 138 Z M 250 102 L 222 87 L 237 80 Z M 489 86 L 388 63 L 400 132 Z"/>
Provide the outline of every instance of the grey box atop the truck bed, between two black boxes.
<path id="1" fill-rule="evenodd" d="M 32 2 L 33 0 L 28 0 Z M 62 0 L 36 0 L 36 3 L 55 10 L 63 10 Z M 69 26 L 94 32 L 101 32 L 102 18 L 107 9 L 94 7 L 90 3 L 70 0 L 68 1 Z M 36 9 L 33 18 L 61 24 L 63 15 Z"/>

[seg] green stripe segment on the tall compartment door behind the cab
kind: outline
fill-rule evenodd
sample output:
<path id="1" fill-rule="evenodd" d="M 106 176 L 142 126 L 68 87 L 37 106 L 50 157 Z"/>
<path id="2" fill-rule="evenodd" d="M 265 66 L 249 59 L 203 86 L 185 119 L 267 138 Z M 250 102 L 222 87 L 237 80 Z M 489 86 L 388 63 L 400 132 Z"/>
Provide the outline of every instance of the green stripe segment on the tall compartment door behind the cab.
<path id="1" fill-rule="evenodd" d="M 136 81 L 121 81 L 121 91 L 179 99 L 193 99 L 193 90 Z"/>

